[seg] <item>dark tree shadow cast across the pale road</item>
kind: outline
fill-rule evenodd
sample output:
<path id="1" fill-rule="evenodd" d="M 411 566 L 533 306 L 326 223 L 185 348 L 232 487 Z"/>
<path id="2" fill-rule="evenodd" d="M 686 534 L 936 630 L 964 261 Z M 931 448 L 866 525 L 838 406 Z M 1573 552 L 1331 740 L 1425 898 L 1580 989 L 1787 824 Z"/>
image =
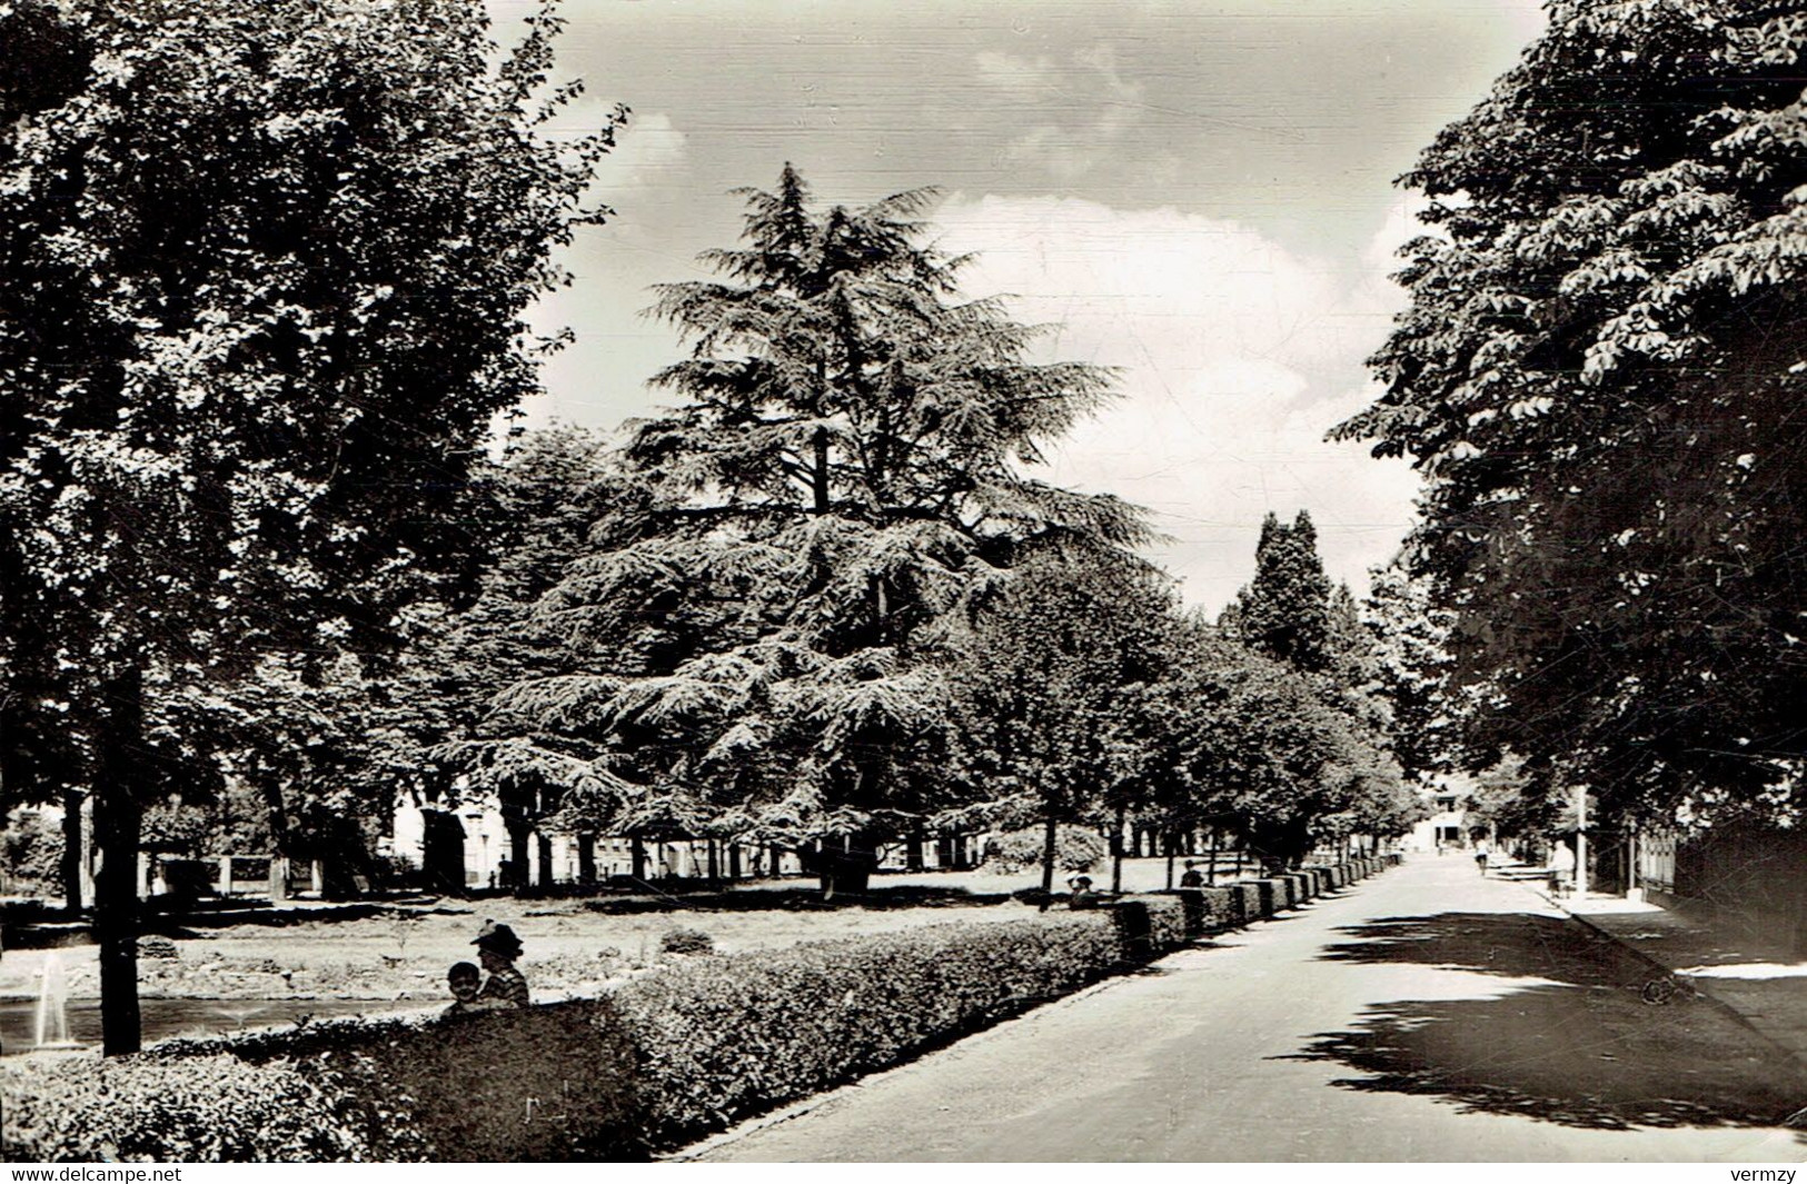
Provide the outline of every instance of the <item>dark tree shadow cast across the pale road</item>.
<path id="1" fill-rule="evenodd" d="M 1449 998 L 1440 978 L 1444 998 L 1373 1003 L 1355 1030 L 1321 1032 L 1285 1057 L 1370 1074 L 1339 1086 L 1601 1130 L 1773 1126 L 1807 1103 L 1793 1057 L 1708 1001 L 1646 1005 L 1648 963 L 1576 922 L 1442 913 L 1343 933 L 1357 940 L 1323 960 L 1521 982 L 1476 980 L 1469 998 Z"/>

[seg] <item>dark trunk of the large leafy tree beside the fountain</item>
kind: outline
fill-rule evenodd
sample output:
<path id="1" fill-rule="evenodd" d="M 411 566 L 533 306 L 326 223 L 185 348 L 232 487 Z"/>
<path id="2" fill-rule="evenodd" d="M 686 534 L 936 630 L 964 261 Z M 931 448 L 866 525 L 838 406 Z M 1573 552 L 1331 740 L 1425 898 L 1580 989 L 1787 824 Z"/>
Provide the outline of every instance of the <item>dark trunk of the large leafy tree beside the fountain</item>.
<path id="1" fill-rule="evenodd" d="M 132 669 L 107 687 L 108 725 L 94 794 L 94 938 L 101 956 L 101 1050 L 137 1052 L 137 848 L 145 821 L 137 775 L 145 766 L 145 676 Z"/>

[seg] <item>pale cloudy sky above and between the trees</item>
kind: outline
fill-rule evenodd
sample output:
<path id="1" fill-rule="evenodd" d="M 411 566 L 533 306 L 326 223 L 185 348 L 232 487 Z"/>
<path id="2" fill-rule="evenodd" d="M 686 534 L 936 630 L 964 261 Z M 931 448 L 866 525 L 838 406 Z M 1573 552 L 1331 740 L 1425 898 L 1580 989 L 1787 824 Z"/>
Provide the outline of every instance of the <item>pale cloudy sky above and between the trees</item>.
<path id="1" fill-rule="evenodd" d="M 492 0 L 506 42 L 531 11 Z M 1254 571 L 1261 519 L 1308 510 L 1366 587 L 1417 479 L 1325 432 L 1402 305 L 1393 186 L 1541 27 L 1534 0 L 567 0 L 560 130 L 632 119 L 598 177 L 569 289 L 575 343 L 528 423 L 613 428 L 681 356 L 652 284 L 741 231 L 730 190 L 786 161 L 822 202 L 936 186 L 965 295 L 1048 324 L 1044 358 L 1119 367 L 1119 399 L 1035 475 L 1147 506 L 1151 557 L 1207 611 Z"/>

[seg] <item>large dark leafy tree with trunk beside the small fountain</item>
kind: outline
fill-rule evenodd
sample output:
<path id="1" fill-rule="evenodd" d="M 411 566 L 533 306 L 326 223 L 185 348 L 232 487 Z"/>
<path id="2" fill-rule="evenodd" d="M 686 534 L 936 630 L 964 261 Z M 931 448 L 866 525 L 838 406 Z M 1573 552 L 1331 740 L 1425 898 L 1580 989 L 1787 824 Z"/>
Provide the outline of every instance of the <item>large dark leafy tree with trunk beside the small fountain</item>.
<path id="1" fill-rule="evenodd" d="M 490 67 L 481 7 L 450 0 L 0 22 L 51 60 L 0 58 L 0 638 L 31 701 L 105 741 L 83 779 L 128 1052 L 145 804 L 266 660 L 311 683 L 461 595 L 472 465 L 537 387 L 524 313 L 598 217 L 613 125 L 544 139 L 557 22 Z"/>

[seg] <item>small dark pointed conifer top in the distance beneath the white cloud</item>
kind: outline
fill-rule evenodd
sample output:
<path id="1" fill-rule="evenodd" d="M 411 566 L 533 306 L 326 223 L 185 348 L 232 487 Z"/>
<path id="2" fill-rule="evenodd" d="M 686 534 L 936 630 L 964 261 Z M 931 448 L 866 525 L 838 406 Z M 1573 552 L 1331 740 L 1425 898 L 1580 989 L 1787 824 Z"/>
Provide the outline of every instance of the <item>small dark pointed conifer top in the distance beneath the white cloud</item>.
<path id="1" fill-rule="evenodd" d="M 1317 528 L 1299 510 L 1292 526 L 1269 513 L 1254 553 L 1254 580 L 1236 593 L 1225 622 L 1250 649 L 1301 671 L 1328 671 L 1334 662 L 1330 577 L 1317 555 Z"/>

